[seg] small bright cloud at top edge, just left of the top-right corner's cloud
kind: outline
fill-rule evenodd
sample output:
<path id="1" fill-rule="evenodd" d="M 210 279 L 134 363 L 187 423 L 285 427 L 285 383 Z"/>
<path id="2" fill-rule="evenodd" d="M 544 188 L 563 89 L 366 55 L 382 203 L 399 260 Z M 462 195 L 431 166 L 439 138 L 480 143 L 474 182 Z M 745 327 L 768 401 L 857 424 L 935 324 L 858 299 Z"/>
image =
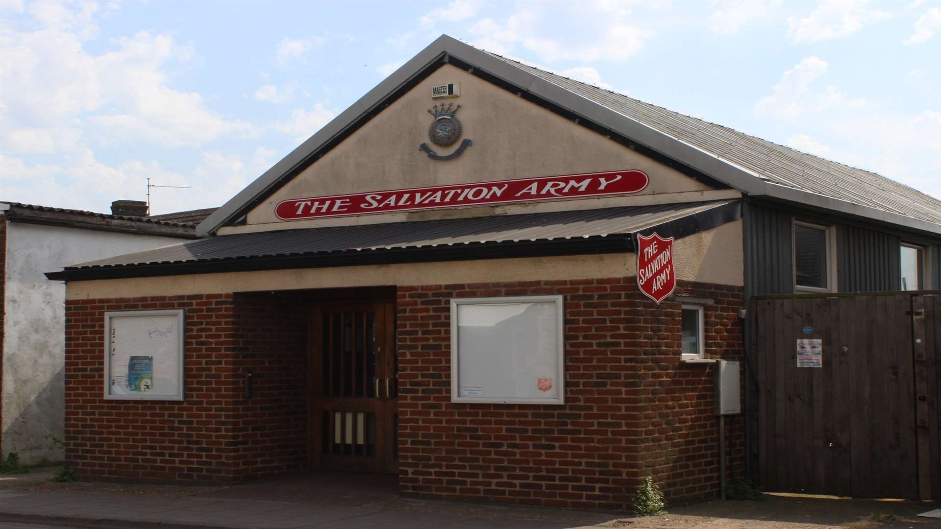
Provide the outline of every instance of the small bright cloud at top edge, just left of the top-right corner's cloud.
<path id="1" fill-rule="evenodd" d="M 805 18 L 788 17 L 788 37 L 795 43 L 849 37 L 887 16 L 865 0 L 822 0 Z"/>

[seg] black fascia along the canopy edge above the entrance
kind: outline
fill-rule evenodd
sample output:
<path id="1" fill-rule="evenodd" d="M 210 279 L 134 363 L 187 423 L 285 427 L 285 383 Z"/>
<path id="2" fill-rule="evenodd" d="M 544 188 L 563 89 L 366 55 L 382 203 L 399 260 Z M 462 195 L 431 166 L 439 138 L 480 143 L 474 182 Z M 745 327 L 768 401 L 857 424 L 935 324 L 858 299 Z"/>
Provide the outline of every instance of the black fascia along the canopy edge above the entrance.
<path id="1" fill-rule="evenodd" d="M 726 222 L 742 218 L 742 201 L 735 200 L 718 207 L 649 226 L 638 232 L 658 232 L 664 237 L 683 237 L 710 230 Z M 434 263 L 441 261 L 475 261 L 518 257 L 590 255 L 633 251 L 635 233 L 612 233 L 579 239 L 553 239 L 522 242 L 471 243 L 457 247 L 375 248 L 334 251 L 306 255 L 282 255 L 217 259 L 190 263 L 154 263 L 126 266 L 70 267 L 46 272 L 51 281 L 113 280 L 154 276 L 179 276 L 219 272 L 247 272 L 289 268 L 326 268 L 367 264 Z"/>

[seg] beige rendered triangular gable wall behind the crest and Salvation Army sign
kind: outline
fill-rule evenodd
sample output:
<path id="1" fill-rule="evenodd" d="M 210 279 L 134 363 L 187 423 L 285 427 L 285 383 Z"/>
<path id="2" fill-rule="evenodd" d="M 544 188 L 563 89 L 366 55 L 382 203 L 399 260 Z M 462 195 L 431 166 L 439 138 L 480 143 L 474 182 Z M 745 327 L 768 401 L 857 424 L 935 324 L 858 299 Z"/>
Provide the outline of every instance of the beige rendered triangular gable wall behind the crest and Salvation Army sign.
<path id="1" fill-rule="evenodd" d="M 460 83 L 460 97 L 432 100 L 431 87 L 445 83 Z M 439 154 L 455 150 L 456 145 L 441 148 L 428 140 L 428 127 L 433 118 L 427 110 L 442 102 L 462 105 L 456 114 L 464 128 L 462 139 L 473 141 L 466 152 L 448 161 L 432 160 L 419 151 L 422 143 L 428 143 Z M 631 168 L 645 171 L 650 184 L 630 196 L 295 221 L 279 220 L 274 213 L 275 205 L 288 199 Z M 444 65 L 249 212 L 247 226 L 228 227 L 219 233 L 734 196 L 738 196 L 737 191 L 711 191 L 709 186 L 614 140 L 455 66 Z"/>

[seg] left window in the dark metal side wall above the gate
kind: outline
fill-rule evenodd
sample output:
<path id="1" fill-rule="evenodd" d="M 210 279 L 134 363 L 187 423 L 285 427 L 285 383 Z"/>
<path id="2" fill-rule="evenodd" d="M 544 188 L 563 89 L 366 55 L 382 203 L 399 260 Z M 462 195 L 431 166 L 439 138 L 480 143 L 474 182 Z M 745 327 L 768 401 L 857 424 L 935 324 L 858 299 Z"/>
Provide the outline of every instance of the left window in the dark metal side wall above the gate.
<path id="1" fill-rule="evenodd" d="M 794 290 L 832 292 L 837 284 L 833 227 L 794 221 Z"/>

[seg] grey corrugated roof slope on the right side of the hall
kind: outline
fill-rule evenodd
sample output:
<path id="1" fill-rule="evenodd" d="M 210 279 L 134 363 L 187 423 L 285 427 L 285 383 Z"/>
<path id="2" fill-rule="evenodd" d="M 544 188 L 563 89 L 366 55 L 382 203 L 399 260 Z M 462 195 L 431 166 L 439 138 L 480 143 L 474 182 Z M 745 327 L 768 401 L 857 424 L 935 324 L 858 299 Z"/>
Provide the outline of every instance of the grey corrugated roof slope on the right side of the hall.
<path id="1" fill-rule="evenodd" d="M 766 182 L 846 200 L 889 213 L 941 223 L 941 200 L 880 174 L 796 151 L 506 57 L 489 55 L 637 120 L 662 134 L 673 136 L 728 163 L 748 169 Z"/>

